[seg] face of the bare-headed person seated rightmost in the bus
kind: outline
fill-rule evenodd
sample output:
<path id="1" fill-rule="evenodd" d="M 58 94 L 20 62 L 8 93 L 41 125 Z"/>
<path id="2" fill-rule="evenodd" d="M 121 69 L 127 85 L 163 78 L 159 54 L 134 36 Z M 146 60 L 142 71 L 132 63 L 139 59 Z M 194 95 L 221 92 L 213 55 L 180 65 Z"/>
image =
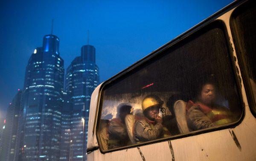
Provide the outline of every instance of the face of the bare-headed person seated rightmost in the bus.
<path id="1" fill-rule="evenodd" d="M 201 91 L 200 101 L 205 105 L 211 105 L 215 102 L 215 88 L 213 85 L 204 85 Z"/>

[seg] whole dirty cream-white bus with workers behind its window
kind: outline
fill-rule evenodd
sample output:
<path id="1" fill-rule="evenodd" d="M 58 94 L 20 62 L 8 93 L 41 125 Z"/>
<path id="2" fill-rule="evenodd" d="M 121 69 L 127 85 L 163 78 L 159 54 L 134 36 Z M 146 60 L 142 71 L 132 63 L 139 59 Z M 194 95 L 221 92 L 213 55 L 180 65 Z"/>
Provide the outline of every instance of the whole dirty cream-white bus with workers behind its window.
<path id="1" fill-rule="evenodd" d="M 87 159 L 256 160 L 255 26 L 255 2 L 235 1 L 99 85 L 90 103 Z M 195 101 L 207 81 L 216 107 L 210 110 Z M 157 102 L 163 122 L 145 121 L 147 98 Z M 124 117 L 121 105 L 131 113 Z M 209 126 L 196 120 L 198 113 Z M 160 127 L 169 134 L 160 135 Z"/>

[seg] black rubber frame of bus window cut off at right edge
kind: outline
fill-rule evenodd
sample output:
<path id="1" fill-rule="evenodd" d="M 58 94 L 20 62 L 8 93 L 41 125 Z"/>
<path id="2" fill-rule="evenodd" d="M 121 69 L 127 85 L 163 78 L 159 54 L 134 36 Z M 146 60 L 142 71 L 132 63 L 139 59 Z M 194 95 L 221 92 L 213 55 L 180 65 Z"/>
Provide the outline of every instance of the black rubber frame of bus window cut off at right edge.
<path id="1" fill-rule="evenodd" d="M 245 56 L 243 53 L 243 51 L 241 50 L 241 48 L 239 47 L 239 39 L 236 33 L 236 23 L 234 20 L 235 15 L 239 15 L 242 11 L 243 11 L 243 7 L 247 5 L 247 3 L 251 3 L 249 2 L 250 0 L 244 2 L 243 4 L 241 4 L 240 6 L 238 6 L 237 8 L 234 9 L 234 11 L 232 12 L 232 14 L 230 15 L 230 31 L 233 37 L 233 43 L 235 46 L 235 50 L 236 50 L 236 55 L 237 55 L 237 59 L 239 62 L 239 65 L 241 66 L 246 66 L 245 64 Z M 250 79 L 249 79 L 249 74 L 247 69 L 244 68 L 240 68 L 241 70 L 241 77 L 243 79 L 243 83 L 244 83 L 244 88 L 245 88 L 245 93 L 247 96 L 247 101 L 249 104 L 249 108 L 250 108 L 250 112 L 253 114 L 253 116 L 256 118 L 256 98 L 254 98 L 253 96 L 253 91 L 252 91 L 252 87 L 250 85 Z M 255 110 L 253 110 L 253 108 Z"/>

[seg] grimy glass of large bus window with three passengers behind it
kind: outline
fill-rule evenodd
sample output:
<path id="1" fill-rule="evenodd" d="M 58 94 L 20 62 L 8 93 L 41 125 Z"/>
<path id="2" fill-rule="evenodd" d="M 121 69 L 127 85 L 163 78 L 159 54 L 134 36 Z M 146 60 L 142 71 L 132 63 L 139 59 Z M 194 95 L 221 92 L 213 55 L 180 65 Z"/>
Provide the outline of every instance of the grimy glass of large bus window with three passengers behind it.
<path id="1" fill-rule="evenodd" d="M 102 150 L 238 121 L 241 105 L 225 28 L 215 21 L 107 83 L 97 136 Z"/>

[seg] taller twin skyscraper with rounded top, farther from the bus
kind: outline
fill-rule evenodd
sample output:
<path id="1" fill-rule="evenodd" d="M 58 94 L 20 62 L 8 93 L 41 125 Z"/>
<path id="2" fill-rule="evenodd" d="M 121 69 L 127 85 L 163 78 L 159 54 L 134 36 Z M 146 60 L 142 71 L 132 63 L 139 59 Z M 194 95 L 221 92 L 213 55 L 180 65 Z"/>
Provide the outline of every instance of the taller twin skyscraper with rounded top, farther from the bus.
<path id="1" fill-rule="evenodd" d="M 23 160 L 59 160 L 64 61 L 59 38 L 45 35 L 26 67 L 16 156 Z"/>

